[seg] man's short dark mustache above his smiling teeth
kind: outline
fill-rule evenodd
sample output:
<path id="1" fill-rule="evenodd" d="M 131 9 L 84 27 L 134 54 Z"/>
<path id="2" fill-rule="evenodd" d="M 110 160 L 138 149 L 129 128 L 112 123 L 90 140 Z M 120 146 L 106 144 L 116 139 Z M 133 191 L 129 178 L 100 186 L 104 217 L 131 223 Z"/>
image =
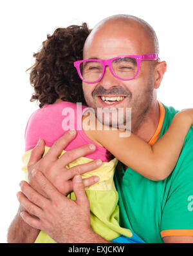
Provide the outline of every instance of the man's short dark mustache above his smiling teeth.
<path id="1" fill-rule="evenodd" d="M 106 90 L 102 86 L 98 86 L 92 93 L 92 96 L 100 96 L 100 95 L 122 95 L 125 97 L 132 97 L 131 92 L 129 90 L 126 90 L 122 86 L 115 86 L 111 90 Z"/>

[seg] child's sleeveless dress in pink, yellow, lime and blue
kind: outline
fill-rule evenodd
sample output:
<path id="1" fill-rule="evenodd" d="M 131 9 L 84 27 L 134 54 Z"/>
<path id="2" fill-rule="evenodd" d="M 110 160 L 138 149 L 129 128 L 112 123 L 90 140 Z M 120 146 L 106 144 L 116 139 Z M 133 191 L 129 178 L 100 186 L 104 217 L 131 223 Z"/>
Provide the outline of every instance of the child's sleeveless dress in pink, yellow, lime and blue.
<path id="1" fill-rule="evenodd" d="M 91 177 L 92 175 L 99 177 L 99 181 L 96 184 L 86 188 L 86 195 L 89 199 L 91 211 L 91 228 L 107 241 L 143 242 L 131 230 L 122 228 L 119 225 L 118 192 L 113 181 L 118 160 L 116 158 L 111 159 L 111 154 L 106 148 L 91 141 L 84 133 L 84 130 L 82 130 L 82 114 L 86 109 L 86 106 L 80 106 L 80 104 L 60 102 L 46 104 L 32 113 L 25 131 L 26 148 L 23 155 L 23 170 L 26 172 L 26 179 L 26 166 L 30 159 L 31 150 L 40 138 L 45 141 L 45 154 L 50 150 L 53 143 L 67 130 L 77 130 L 77 136 L 66 146 L 61 155 L 68 150 L 90 143 L 95 144 L 96 150 L 89 155 L 71 162 L 66 167 L 71 168 L 95 159 L 101 159 L 103 162 L 102 166 L 96 170 L 82 175 L 82 179 Z M 73 192 L 69 193 L 68 197 L 75 200 L 75 194 Z M 66 231 L 68 232 L 68 230 Z M 55 241 L 44 233 L 44 231 L 41 231 L 35 242 L 50 243 Z"/>

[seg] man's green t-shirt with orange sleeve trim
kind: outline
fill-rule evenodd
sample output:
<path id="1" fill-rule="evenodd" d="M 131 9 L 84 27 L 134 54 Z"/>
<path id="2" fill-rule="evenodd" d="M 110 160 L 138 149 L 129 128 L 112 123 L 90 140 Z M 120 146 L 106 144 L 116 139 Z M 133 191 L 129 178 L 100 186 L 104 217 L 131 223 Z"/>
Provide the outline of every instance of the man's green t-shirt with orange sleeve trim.
<path id="1" fill-rule="evenodd" d="M 160 137 L 178 112 L 163 106 L 165 118 Z M 167 179 L 151 181 L 129 167 L 124 171 L 118 162 L 115 185 L 119 194 L 120 226 L 129 228 L 145 242 L 163 242 L 161 236 L 166 235 L 193 235 L 193 126 Z"/>

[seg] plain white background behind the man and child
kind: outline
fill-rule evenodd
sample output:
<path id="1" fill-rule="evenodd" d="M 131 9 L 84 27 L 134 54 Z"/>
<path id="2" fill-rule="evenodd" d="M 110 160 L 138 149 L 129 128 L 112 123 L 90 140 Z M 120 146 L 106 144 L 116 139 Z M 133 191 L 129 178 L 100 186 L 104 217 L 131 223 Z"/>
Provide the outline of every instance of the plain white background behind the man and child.
<path id="1" fill-rule="evenodd" d="M 32 88 L 25 72 L 33 64 L 47 34 L 57 27 L 81 25 L 90 28 L 114 14 L 131 14 L 147 21 L 160 41 L 160 59 L 167 73 L 158 89 L 158 99 L 176 109 L 192 108 L 193 93 L 193 3 L 192 0 L 33 0 L 1 1 L 0 4 L 0 97 L 1 97 L 1 218 L 0 242 L 6 242 L 8 226 L 19 206 L 15 194 L 24 152 L 24 129 L 38 108 L 30 103 Z"/>

